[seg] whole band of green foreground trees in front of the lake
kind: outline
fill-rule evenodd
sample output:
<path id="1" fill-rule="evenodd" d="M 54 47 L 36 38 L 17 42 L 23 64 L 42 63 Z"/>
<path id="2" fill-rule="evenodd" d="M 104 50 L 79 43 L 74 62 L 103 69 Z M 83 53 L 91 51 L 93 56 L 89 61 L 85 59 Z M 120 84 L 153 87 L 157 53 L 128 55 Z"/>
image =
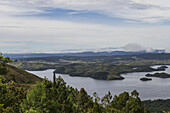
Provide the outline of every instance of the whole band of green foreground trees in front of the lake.
<path id="1" fill-rule="evenodd" d="M 27 93 L 15 82 L 0 82 L 1 113 L 149 113 L 141 103 L 138 93 L 133 91 L 115 96 L 110 92 L 94 100 L 81 88 L 80 91 L 67 86 L 61 77 L 56 84 L 44 80 L 32 86 Z M 101 102 L 99 102 L 101 100 Z"/>

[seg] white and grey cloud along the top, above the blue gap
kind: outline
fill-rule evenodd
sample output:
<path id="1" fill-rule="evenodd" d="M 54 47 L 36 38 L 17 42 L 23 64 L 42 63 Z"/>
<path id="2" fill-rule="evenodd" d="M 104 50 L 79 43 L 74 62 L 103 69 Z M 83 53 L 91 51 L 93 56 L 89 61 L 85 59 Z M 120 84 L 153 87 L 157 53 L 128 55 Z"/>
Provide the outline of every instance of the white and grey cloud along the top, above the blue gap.
<path id="1" fill-rule="evenodd" d="M 57 8 L 75 10 L 74 13 L 96 12 L 146 23 L 170 20 L 168 0 L 0 0 L 0 13 L 5 15 L 47 13 L 46 10 Z"/>

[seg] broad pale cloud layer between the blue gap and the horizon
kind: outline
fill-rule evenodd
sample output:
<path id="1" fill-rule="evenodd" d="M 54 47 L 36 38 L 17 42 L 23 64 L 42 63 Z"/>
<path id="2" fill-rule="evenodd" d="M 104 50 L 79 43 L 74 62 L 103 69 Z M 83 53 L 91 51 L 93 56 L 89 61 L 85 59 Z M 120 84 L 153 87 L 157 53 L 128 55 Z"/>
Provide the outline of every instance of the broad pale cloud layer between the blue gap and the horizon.
<path id="1" fill-rule="evenodd" d="M 170 41 L 169 29 L 169 26 L 108 26 L 0 16 L 0 45 L 4 49 L 7 45 L 15 48 L 16 43 L 9 44 L 7 41 L 24 42 L 24 45 L 17 47 L 21 50 L 28 46 L 25 42 L 33 41 L 38 43 L 34 44 L 32 50 L 44 46 L 44 51 L 121 47 L 127 43 L 166 48 Z"/>

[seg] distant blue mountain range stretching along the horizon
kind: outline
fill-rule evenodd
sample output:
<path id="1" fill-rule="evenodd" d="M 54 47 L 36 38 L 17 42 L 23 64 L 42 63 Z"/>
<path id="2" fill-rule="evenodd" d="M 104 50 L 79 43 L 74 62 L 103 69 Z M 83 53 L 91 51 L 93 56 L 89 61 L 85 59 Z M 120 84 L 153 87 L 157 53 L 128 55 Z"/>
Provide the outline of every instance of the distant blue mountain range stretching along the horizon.
<path id="1" fill-rule="evenodd" d="M 11 59 L 18 58 L 32 58 L 32 57 L 51 57 L 51 56 L 78 56 L 78 57 L 87 57 L 87 56 L 114 56 L 114 55 L 138 55 L 146 53 L 165 53 L 165 50 L 154 50 L 152 52 L 147 52 L 145 50 L 138 52 L 130 51 L 102 51 L 102 52 L 77 52 L 77 53 L 23 53 L 23 54 L 3 54 L 3 56 L 8 56 Z"/>

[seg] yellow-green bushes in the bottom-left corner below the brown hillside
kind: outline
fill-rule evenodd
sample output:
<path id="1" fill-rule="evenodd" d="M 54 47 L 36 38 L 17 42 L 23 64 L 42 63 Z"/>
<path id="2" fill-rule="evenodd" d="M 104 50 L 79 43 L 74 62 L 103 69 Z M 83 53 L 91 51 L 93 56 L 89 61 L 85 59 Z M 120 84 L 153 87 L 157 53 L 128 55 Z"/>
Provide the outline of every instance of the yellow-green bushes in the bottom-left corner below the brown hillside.
<path id="1" fill-rule="evenodd" d="M 19 106 L 25 98 L 23 89 L 13 81 L 0 81 L 0 109 L 4 113 L 19 112 Z"/>

